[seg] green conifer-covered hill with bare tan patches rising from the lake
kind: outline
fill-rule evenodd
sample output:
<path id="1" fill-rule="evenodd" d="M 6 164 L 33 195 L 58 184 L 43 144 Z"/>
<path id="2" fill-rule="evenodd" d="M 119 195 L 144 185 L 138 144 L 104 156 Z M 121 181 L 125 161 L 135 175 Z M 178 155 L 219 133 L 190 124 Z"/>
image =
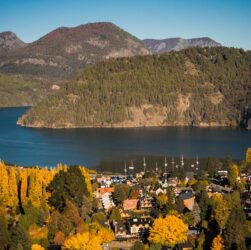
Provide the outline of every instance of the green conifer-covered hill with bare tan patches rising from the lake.
<path id="1" fill-rule="evenodd" d="M 27 127 L 238 126 L 251 105 L 251 51 L 189 48 L 83 70 L 19 120 Z"/>

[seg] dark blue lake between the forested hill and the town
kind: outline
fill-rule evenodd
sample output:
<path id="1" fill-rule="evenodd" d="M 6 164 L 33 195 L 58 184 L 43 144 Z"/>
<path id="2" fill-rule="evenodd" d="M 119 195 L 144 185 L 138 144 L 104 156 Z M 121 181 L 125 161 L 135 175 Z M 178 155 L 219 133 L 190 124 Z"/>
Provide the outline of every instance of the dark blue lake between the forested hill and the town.
<path id="1" fill-rule="evenodd" d="M 251 131 L 232 128 L 35 129 L 16 125 L 27 108 L 0 109 L 0 158 L 30 166 L 97 167 L 150 156 L 244 159 Z M 114 164 L 116 167 L 116 164 Z"/>

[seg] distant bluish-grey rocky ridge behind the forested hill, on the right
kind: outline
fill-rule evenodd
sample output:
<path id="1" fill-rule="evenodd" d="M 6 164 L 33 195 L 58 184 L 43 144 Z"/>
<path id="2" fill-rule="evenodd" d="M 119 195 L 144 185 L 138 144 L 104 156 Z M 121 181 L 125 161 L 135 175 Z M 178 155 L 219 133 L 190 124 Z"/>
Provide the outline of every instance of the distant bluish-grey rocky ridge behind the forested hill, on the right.
<path id="1" fill-rule="evenodd" d="M 220 43 L 212 40 L 209 37 L 183 39 L 183 38 L 167 38 L 163 40 L 145 39 L 145 46 L 153 53 L 163 53 L 170 51 L 179 51 L 190 47 L 218 47 Z"/>

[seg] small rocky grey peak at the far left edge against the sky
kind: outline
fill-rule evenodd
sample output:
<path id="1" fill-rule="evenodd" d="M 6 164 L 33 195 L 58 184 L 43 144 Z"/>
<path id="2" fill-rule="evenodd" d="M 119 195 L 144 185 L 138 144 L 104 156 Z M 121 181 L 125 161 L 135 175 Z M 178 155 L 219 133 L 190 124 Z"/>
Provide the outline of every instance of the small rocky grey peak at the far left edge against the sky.
<path id="1" fill-rule="evenodd" d="M 0 33 L 0 54 L 14 49 L 23 48 L 26 44 L 13 32 Z"/>

